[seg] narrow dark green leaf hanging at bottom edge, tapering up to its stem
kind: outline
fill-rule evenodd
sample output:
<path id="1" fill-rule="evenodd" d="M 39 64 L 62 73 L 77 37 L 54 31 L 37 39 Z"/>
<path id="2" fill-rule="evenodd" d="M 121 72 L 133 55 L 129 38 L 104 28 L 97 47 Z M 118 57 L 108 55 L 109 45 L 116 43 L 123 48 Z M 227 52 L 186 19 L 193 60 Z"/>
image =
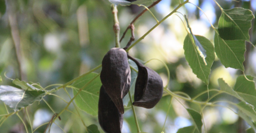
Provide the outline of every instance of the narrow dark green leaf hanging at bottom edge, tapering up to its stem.
<path id="1" fill-rule="evenodd" d="M 203 122 L 201 121 L 202 119 L 201 114 L 199 114 L 197 111 L 193 109 L 187 109 L 187 111 L 190 117 L 192 118 L 192 121 L 196 127 L 196 130 L 201 133 L 202 131 L 201 129 L 203 126 Z"/>

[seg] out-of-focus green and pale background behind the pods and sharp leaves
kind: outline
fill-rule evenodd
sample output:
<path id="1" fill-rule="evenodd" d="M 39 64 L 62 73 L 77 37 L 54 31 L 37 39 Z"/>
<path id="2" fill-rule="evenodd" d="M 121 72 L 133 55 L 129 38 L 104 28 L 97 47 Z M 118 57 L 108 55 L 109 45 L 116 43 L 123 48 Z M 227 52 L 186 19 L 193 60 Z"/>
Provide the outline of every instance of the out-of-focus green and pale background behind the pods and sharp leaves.
<path id="1" fill-rule="evenodd" d="M 190 2 L 201 7 L 211 23 L 218 27 L 221 11 L 214 1 L 191 0 Z M 243 7 L 252 10 L 255 15 L 256 0 L 238 2 L 218 0 L 217 2 L 223 9 Z M 151 8 L 151 11 L 158 20 L 161 20 L 178 4 L 179 0 L 162 0 L 157 6 Z M 121 35 L 142 9 L 143 7 L 118 6 Z M 195 35 L 203 35 L 213 42 L 214 31 L 201 11 L 190 3 L 178 11 L 187 14 Z M 177 15 L 181 16 L 179 13 Z M 207 87 L 193 74 L 185 60 L 183 41 L 187 32 L 177 15 L 170 16 L 130 49 L 129 53 L 143 61 L 152 58 L 164 61 L 170 70 L 170 81 L 167 81 L 166 69 L 161 62 L 153 60 L 147 66 L 161 75 L 164 85 L 167 82 L 170 83 L 168 88 L 171 91 L 185 92 L 193 97 L 205 91 Z M 181 18 L 183 19 L 183 17 Z M 155 24 L 156 20 L 149 12 L 139 17 L 135 22 L 135 40 L 144 35 Z M 252 27 L 250 39 L 253 44 L 256 44 L 255 20 L 253 20 Z M 64 84 L 101 64 L 105 53 L 115 46 L 114 37 L 113 14 L 110 2 L 107 0 L 0 0 L 1 84 L 14 86 L 12 80 L 6 77 L 40 83 L 43 87 L 51 84 Z M 18 40 L 18 43 L 15 43 L 15 39 Z M 129 39 L 130 31 L 121 42 L 121 47 L 125 47 Z M 244 62 L 245 74 L 256 76 L 256 50 L 251 47 L 251 45 L 247 45 Z M 236 77 L 242 74 L 239 70 L 225 68 L 217 58 L 211 70 L 210 89 L 218 88 L 218 78 L 223 78 L 230 86 L 234 86 Z M 96 72 L 100 72 L 100 70 Z M 72 94 L 72 90 L 68 91 Z M 55 94 L 69 101 L 64 90 L 59 90 Z M 207 98 L 207 95 L 200 97 L 201 100 Z M 164 130 L 166 133 L 175 133 L 179 128 L 192 124 L 187 111 L 177 100 L 172 100 L 170 111 L 167 113 L 170 99 L 169 96 L 164 96 L 152 109 L 136 108 L 143 132 L 160 133 L 166 114 L 168 114 Z M 55 112 L 61 111 L 66 106 L 66 103 L 57 97 L 47 96 L 45 100 Z M 236 99 L 230 97 L 230 100 Z M 180 101 L 187 107 L 199 109 L 196 104 Z M 223 106 L 227 105 L 223 103 Z M 232 109 L 232 107 L 229 108 Z M 73 110 L 73 105 L 69 106 L 69 109 Z M 28 115 L 33 120 L 33 129 L 50 121 L 53 115 L 43 101 L 40 101 L 39 105 L 37 102 L 33 103 L 28 107 L 28 110 Z M 97 116 L 90 116 L 82 111 L 81 113 L 81 118 L 85 121 L 86 126 L 96 124 L 99 130 L 103 132 L 98 124 Z M 0 114 L 6 114 L 2 102 L 0 102 Z M 20 112 L 20 115 L 25 116 L 27 114 Z M 203 117 L 208 133 L 240 133 L 240 129 L 248 127 L 243 120 L 227 108 L 205 108 Z M 136 132 L 130 108 L 125 112 L 124 118 L 122 132 Z M 85 132 L 80 118 L 68 111 L 65 111 L 61 115 L 61 121 L 57 120 L 56 123 L 66 132 Z M 45 128 L 46 125 L 39 127 L 36 132 L 43 132 Z M 22 133 L 24 126 L 16 115 L 12 115 L 1 125 L 0 132 Z M 51 132 L 62 131 L 53 124 Z"/>

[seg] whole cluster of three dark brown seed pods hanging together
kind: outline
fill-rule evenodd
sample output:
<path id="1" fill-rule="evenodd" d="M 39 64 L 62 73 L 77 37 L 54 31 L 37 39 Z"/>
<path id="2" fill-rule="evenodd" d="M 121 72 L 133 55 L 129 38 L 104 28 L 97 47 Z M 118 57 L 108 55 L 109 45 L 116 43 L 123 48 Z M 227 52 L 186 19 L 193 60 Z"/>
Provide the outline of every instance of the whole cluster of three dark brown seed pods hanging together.
<path id="1" fill-rule="evenodd" d="M 112 48 L 102 60 L 98 119 L 106 133 L 121 133 L 123 125 L 123 98 L 131 83 L 128 57 L 138 66 L 135 83 L 134 106 L 153 108 L 163 94 L 163 82 L 157 72 L 129 56 L 122 48 Z"/>

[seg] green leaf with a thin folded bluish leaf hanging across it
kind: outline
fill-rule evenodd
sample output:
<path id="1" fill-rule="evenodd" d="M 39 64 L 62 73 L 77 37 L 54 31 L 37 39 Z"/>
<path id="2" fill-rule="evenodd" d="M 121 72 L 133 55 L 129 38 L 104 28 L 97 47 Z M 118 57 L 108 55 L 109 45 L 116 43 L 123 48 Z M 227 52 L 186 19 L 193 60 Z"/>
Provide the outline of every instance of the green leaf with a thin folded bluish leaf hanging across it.
<path id="1" fill-rule="evenodd" d="M 205 58 L 207 65 L 205 65 L 203 59 L 197 51 L 196 45 L 194 45 L 188 34 L 184 40 L 184 53 L 185 58 L 188 61 L 189 66 L 192 68 L 193 73 L 201 79 L 205 84 L 209 84 L 209 75 L 211 72 L 211 66 L 215 59 L 214 47 L 210 40 L 203 36 L 196 35 L 197 40 L 201 43 L 203 48 L 206 50 L 207 57 Z"/>

